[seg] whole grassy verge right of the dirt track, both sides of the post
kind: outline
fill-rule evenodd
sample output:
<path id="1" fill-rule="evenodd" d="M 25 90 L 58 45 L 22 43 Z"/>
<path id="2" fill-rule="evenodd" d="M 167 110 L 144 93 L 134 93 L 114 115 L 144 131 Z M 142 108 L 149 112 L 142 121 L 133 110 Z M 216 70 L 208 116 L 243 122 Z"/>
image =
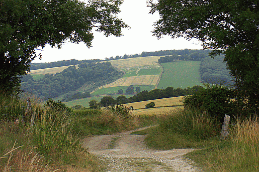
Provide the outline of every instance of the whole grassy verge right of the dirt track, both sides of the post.
<path id="1" fill-rule="evenodd" d="M 141 131 L 156 149 L 199 148 L 186 156 L 205 171 L 259 171 L 259 120 L 239 120 L 220 140 L 220 122 L 195 109 L 164 114 L 157 127 Z M 140 133 L 140 134 L 141 134 Z"/>

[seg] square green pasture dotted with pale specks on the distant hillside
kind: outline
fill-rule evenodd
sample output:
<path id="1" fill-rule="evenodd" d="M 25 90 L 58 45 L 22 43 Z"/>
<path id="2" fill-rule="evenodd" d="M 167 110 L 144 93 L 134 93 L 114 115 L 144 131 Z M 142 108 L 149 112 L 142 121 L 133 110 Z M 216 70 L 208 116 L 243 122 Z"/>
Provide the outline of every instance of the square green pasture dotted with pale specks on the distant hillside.
<path id="1" fill-rule="evenodd" d="M 199 74 L 201 61 L 178 61 L 161 63 L 163 74 L 158 84 L 159 89 L 166 87 L 187 88 L 202 85 Z"/>

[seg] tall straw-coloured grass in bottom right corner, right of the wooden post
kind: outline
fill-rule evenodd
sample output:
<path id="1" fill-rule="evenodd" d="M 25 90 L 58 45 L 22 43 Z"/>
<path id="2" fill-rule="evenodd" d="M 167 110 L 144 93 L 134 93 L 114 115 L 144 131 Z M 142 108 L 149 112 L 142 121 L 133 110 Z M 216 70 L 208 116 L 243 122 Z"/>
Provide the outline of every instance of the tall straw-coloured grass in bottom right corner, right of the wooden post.
<path id="1" fill-rule="evenodd" d="M 190 154 L 209 171 L 259 171 L 259 120 L 237 119 L 228 140 Z"/>

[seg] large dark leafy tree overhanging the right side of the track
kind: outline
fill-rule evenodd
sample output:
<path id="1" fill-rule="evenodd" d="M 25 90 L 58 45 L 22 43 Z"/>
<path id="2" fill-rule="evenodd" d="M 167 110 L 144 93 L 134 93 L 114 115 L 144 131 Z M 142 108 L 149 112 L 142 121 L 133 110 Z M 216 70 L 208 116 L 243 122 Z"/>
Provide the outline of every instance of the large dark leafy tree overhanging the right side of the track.
<path id="1" fill-rule="evenodd" d="M 150 13 L 158 12 L 153 35 L 161 38 L 196 38 L 212 57 L 224 54 L 236 78 L 238 96 L 245 107 L 259 109 L 259 4 L 258 1 L 148 1 Z"/>

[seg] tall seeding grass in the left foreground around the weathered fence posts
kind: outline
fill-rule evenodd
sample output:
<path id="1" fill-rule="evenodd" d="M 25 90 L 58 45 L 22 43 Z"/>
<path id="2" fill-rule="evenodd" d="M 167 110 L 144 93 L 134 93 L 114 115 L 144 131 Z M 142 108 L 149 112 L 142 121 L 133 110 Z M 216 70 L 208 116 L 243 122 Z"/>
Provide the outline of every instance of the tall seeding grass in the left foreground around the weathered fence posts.
<path id="1" fill-rule="evenodd" d="M 78 157 L 87 150 L 72 134 L 73 123 L 68 114 L 31 100 L 33 126 L 21 119 L 19 124 L 12 118 L 0 121 L 0 171 L 53 171 L 61 164 L 78 163 Z M 3 95 L 0 102 L 8 106 L 26 104 L 22 99 Z"/>

